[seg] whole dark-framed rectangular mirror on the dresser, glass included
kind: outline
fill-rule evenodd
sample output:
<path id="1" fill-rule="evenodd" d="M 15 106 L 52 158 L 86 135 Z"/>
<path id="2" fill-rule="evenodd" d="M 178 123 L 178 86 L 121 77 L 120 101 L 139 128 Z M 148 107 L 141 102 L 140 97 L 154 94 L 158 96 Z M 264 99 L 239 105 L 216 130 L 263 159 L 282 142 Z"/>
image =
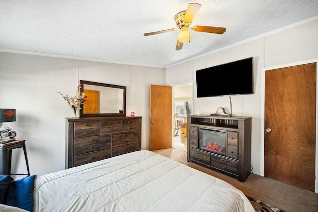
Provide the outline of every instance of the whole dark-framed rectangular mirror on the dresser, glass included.
<path id="1" fill-rule="evenodd" d="M 80 80 L 81 92 L 87 95 L 79 117 L 126 116 L 126 86 Z"/>

